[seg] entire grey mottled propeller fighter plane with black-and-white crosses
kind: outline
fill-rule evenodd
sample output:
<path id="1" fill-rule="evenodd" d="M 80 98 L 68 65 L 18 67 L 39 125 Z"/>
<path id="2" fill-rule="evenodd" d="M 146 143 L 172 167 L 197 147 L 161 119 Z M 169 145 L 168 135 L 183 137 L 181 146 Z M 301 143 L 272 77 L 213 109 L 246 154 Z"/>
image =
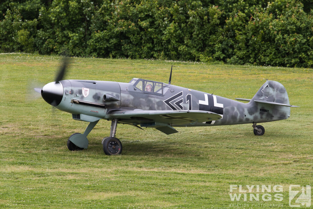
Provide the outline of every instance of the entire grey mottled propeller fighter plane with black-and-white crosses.
<path id="1" fill-rule="evenodd" d="M 257 123 L 284 120 L 290 117 L 289 98 L 285 87 L 277 81 L 261 86 L 252 99 L 239 101 L 219 97 L 168 83 L 133 78 L 129 83 L 93 80 L 62 80 L 64 62 L 55 81 L 35 88 L 42 98 L 61 111 L 72 114 L 74 120 L 89 122 L 84 133 L 72 134 L 69 150 L 87 149 L 87 135 L 100 119 L 111 121 L 110 136 L 103 138 L 107 155 L 122 152 L 121 141 L 115 137 L 118 123 L 137 128 L 156 128 L 172 134 L 174 127 L 220 126 L 251 123 L 255 135 L 263 135 L 264 127 Z M 173 67 L 173 66 L 172 66 Z"/>

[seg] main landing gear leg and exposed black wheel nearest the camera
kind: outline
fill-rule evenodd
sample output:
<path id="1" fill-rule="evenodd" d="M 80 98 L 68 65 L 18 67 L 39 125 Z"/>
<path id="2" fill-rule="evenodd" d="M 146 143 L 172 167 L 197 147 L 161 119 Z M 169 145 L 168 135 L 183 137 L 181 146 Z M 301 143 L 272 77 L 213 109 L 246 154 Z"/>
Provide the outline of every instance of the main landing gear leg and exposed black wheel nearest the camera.
<path id="1" fill-rule="evenodd" d="M 105 137 L 102 140 L 103 151 L 107 155 L 117 155 L 122 153 L 122 143 L 118 138 L 115 138 L 118 119 L 113 119 L 111 123 L 110 137 Z"/>

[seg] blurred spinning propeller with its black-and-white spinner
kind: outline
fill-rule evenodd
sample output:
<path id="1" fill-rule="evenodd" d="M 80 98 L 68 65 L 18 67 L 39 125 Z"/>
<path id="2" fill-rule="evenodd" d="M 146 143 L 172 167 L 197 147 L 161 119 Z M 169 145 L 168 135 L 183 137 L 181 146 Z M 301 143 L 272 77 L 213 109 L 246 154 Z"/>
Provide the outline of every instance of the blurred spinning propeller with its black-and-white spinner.
<path id="1" fill-rule="evenodd" d="M 59 81 L 64 77 L 67 64 L 68 58 L 64 57 L 55 81 L 44 85 L 42 88 L 34 88 L 36 92 L 41 94 L 44 101 L 54 107 L 58 106 L 63 98 L 63 85 Z"/>

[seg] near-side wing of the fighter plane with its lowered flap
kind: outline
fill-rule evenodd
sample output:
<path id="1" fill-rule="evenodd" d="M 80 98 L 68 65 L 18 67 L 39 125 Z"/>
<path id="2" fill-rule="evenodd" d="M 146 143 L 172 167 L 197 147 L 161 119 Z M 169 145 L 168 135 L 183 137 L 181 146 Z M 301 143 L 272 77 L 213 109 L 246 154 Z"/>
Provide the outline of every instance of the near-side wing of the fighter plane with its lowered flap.
<path id="1" fill-rule="evenodd" d="M 177 133 L 172 125 L 202 123 L 219 120 L 221 115 L 201 110 L 113 110 L 109 118 L 118 118 L 120 123 L 156 128 L 166 134 Z"/>

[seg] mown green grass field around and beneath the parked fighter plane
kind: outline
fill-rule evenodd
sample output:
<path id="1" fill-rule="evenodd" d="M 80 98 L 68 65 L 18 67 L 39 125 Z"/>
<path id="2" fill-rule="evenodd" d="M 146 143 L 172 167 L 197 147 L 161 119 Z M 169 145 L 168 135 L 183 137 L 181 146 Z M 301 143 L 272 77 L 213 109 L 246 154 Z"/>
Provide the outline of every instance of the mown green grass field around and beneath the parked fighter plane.
<path id="1" fill-rule="evenodd" d="M 52 109 L 32 90 L 54 81 L 59 63 L 58 56 L 0 55 L 0 207 L 291 208 L 289 186 L 312 186 L 312 69 L 72 58 L 66 79 L 167 83 L 173 64 L 180 66 L 173 85 L 252 98 L 269 79 L 281 82 L 290 104 L 300 106 L 287 120 L 260 123 L 263 136 L 253 134 L 252 124 L 177 128 L 172 135 L 118 125 L 123 153 L 107 156 L 101 140 L 110 133 L 109 121 L 89 134 L 88 149 L 71 152 L 68 137 L 88 123 Z M 230 185 L 237 190 L 230 192 Z M 240 192 L 239 185 L 255 186 Z M 262 192 L 256 185 L 271 188 Z M 275 200 L 278 193 L 282 201 Z M 230 194 L 242 197 L 232 201 Z M 250 201 L 251 194 L 259 200 Z"/>

